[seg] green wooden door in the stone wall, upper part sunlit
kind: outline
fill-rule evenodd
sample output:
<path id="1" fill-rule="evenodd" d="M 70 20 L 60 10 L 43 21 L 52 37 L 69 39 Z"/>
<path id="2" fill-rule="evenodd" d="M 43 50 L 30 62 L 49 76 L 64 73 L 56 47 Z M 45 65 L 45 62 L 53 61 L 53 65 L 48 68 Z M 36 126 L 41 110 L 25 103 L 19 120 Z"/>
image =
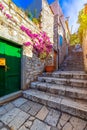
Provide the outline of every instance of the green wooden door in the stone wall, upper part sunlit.
<path id="1" fill-rule="evenodd" d="M 18 91 L 21 86 L 21 47 L 0 40 L 0 58 L 6 65 L 0 66 L 0 96 Z"/>

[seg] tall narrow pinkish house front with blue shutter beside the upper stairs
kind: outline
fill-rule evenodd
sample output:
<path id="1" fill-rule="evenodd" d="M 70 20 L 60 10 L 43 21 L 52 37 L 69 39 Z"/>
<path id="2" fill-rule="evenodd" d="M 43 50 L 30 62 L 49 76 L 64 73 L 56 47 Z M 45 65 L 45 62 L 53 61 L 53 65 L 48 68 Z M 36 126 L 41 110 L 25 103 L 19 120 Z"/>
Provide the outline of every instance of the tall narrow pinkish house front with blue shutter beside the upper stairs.
<path id="1" fill-rule="evenodd" d="M 65 24 L 65 18 L 61 7 L 57 0 L 51 5 L 51 9 L 54 12 L 54 49 L 57 51 L 57 69 L 63 62 L 65 56 L 68 54 L 69 38 L 67 37 L 67 27 Z"/>

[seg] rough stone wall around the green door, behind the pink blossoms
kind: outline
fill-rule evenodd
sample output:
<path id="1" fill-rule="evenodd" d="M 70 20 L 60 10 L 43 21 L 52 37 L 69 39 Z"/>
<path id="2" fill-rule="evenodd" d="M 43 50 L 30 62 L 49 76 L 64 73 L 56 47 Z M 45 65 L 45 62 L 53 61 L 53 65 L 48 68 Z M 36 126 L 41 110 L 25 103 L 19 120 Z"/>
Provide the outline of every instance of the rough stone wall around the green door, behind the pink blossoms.
<path id="1" fill-rule="evenodd" d="M 29 41 L 29 37 L 20 30 L 20 26 L 32 30 L 32 32 L 40 32 L 41 30 L 30 21 L 25 13 L 21 11 L 10 0 L 0 0 L 5 9 L 0 11 L 0 38 L 10 40 L 14 43 L 23 46 L 23 43 Z M 7 19 L 4 11 L 12 16 L 12 19 Z M 13 44 L 13 43 L 12 43 Z M 22 55 L 22 89 L 28 87 L 29 82 L 37 78 L 44 69 L 44 63 L 40 61 L 36 55 L 32 53 L 32 47 L 23 46 Z"/>

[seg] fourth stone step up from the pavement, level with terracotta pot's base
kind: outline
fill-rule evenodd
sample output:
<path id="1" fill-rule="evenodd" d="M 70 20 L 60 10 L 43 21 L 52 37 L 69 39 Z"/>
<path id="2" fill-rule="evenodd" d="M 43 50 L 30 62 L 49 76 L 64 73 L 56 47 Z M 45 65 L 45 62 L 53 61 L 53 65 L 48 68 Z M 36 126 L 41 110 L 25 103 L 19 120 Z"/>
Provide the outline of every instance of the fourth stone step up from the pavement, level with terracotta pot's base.
<path id="1" fill-rule="evenodd" d="M 83 71 L 56 71 L 53 73 L 43 73 L 43 76 L 52 76 L 56 78 L 67 78 L 67 79 L 84 79 L 87 80 L 87 74 Z"/>

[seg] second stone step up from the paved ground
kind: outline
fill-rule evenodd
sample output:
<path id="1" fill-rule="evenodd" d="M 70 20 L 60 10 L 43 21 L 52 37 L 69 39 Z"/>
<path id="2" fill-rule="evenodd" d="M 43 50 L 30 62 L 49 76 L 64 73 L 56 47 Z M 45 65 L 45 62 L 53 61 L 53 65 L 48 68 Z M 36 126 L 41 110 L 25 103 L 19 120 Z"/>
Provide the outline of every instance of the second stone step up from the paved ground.
<path id="1" fill-rule="evenodd" d="M 63 85 L 41 83 L 41 82 L 32 82 L 32 89 L 37 89 L 43 92 L 48 92 L 51 94 L 62 95 L 75 99 L 84 99 L 87 100 L 87 90 L 83 88 L 75 88 Z"/>

